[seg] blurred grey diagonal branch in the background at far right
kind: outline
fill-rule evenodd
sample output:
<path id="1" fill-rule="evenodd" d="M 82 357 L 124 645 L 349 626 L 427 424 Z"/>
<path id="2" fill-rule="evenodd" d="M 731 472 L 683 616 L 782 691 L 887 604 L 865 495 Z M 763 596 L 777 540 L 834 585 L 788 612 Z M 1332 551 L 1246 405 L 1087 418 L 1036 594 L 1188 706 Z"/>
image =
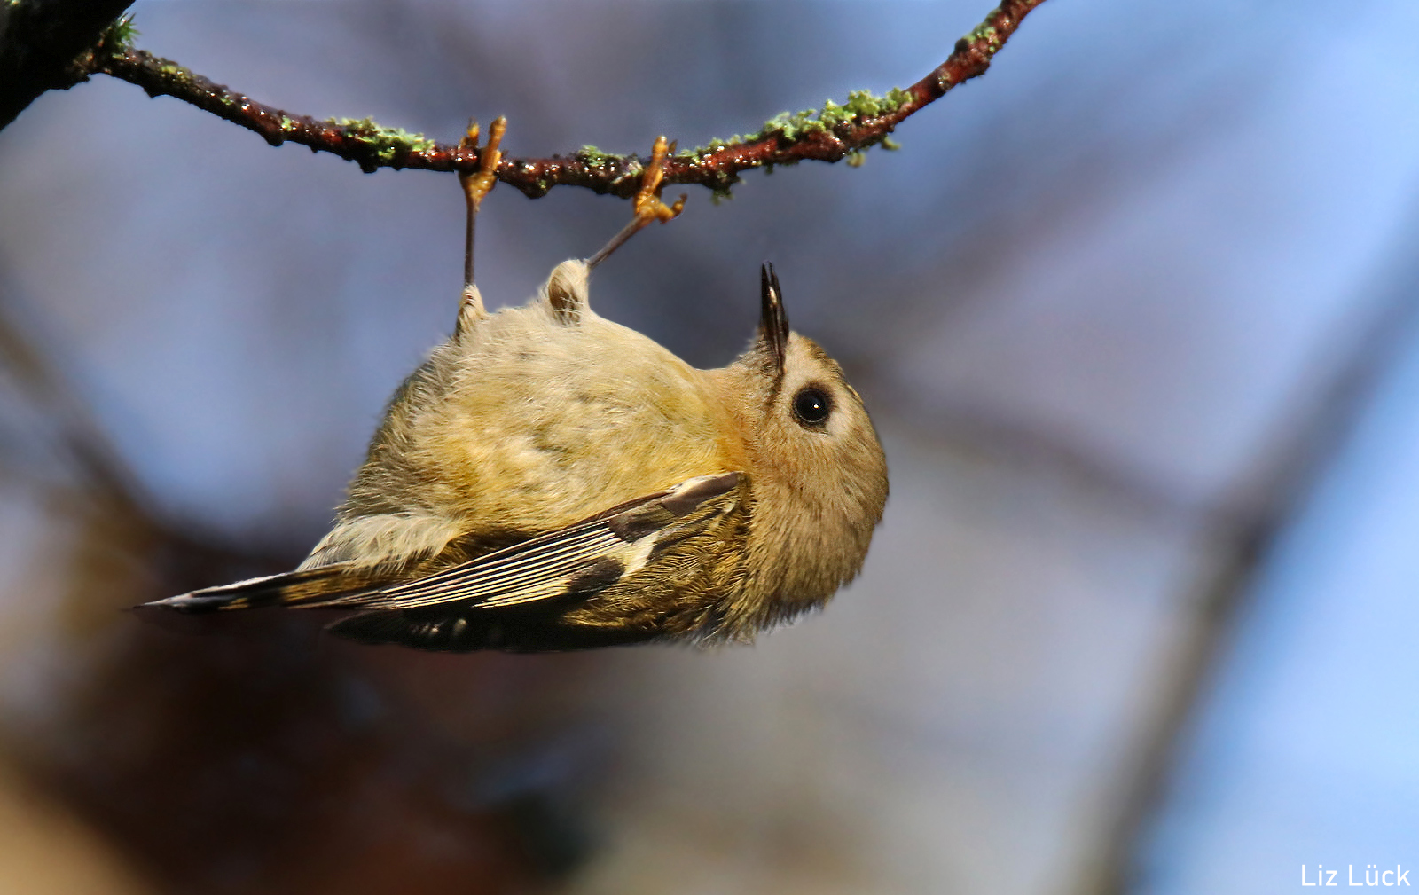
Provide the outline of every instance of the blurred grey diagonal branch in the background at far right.
<path id="1" fill-rule="evenodd" d="M 1223 501 L 1212 525 L 1222 546 L 1208 563 L 1188 618 L 1159 658 L 1159 672 L 1131 755 L 1108 789 L 1111 808 L 1086 857 L 1078 895 L 1125 895 L 1152 888 L 1147 861 L 1149 837 L 1178 784 L 1189 740 L 1196 736 L 1206 698 L 1237 643 L 1237 626 L 1273 573 L 1283 538 L 1311 509 L 1321 485 L 1334 475 L 1342 450 L 1354 440 L 1362 416 L 1389 382 L 1419 336 L 1419 269 L 1409 258 L 1416 228 L 1403 228 L 1395 282 L 1379 284 L 1378 298 L 1359 305 L 1323 349 L 1314 369 L 1328 369 L 1323 382 L 1277 426 L 1273 445 L 1246 471 Z M 1393 275 L 1393 271 L 1386 271 Z M 1331 359 L 1338 349 L 1338 357 Z"/>

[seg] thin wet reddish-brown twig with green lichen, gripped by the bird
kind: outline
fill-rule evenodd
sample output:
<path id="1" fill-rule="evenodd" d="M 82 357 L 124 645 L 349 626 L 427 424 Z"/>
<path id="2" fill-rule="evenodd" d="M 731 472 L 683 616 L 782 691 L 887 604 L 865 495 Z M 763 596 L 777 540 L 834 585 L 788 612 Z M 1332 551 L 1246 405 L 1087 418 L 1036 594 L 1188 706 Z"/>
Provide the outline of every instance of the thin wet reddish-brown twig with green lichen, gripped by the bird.
<path id="1" fill-rule="evenodd" d="M 829 102 L 823 109 L 789 115 L 768 122 L 758 133 L 712 142 L 680 152 L 666 160 L 664 183 L 698 183 L 725 191 L 739 173 L 753 167 L 793 165 L 806 159 L 837 162 L 887 142 L 893 129 L 910 115 L 942 96 L 962 81 L 985 74 L 990 58 L 1015 34 L 1025 16 L 1044 0 L 1005 0 L 975 30 L 956 41 L 945 62 L 904 91 L 884 98 L 854 92 L 846 105 Z M 148 91 L 149 96 L 176 96 L 219 118 L 260 133 L 272 146 L 299 143 L 312 152 L 329 152 L 355 162 L 365 172 L 380 167 L 413 167 L 437 172 L 473 172 L 478 152 L 458 143 L 437 143 L 417 133 L 382 128 L 370 119 L 316 121 L 264 105 L 244 94 L 194 74 L 182 65 L 143 50 L 121 47 L 95 57 L 92 72 L 104 72 Z M 636 193 L 644 160 L 616 156 L 586 146 L 576 155 L 549 159 L 504 156 L 498 180 L 529 197 L 546 194 L 553 186 L 580 186 L 596 193 L 629 197 Z"/>

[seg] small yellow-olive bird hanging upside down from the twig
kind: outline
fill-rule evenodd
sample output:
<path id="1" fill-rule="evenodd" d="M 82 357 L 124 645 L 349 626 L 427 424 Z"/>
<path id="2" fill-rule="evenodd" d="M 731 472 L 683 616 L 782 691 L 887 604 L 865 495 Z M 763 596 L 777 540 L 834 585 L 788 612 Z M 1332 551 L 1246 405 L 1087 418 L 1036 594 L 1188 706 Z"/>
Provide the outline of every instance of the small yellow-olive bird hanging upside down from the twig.
<path id="1" fill-rule="evenodd" d="M 329 631 L 538 652 L 748 641 L 823 604 L 861 569 L 887 462 L 772 267 L 755 339 L 715 370 L 593 312 L 589 269 L 495 313 L 468 282 L 305 562 L 146 606 L 353 610 Z"/>

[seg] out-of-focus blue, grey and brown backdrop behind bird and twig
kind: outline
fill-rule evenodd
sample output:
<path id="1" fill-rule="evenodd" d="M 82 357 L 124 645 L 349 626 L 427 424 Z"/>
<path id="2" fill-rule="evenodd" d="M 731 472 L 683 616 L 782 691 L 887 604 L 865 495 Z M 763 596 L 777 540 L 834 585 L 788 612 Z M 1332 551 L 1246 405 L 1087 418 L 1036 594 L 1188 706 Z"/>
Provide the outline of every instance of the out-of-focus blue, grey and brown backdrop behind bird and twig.
<path id="1" fill-rule="evenodd" d="M 543 156 L 905 87 L 989 10 L 132 11 L 139 47 L 271 105 L 441 140 L 501 113 Z M 712 652 L 121 613 L 324 533 L 453 323 L 463 200 L 112 78 L 41 96 L 0 132 L 0 889 L 1101 891 L 1229 563 L 1130 891 L 1419 871 L 1416 45 L 1405 0 L 1049 0 L 901 150 L 692 189 L 597 268 L 600 313 L 718 366 L 773 261 L 887 448 L 863 576 Z M 629 213 L 495 190 L 484 296 Z"/>

